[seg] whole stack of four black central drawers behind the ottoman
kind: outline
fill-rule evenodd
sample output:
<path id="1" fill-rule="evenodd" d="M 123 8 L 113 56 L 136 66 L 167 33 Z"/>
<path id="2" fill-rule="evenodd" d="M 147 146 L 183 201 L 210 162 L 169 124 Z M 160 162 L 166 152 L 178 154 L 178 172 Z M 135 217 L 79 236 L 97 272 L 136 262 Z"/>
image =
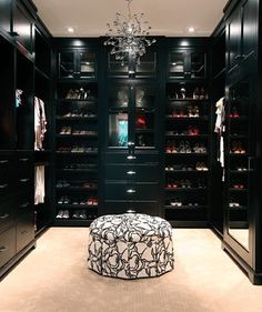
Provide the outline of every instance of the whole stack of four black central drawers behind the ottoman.
<path id="1" fill-rule="evenodd" d="M 108 152 L 104 157 L 102 213 L 160 214 L 159 154 L 139 151 Z"/>

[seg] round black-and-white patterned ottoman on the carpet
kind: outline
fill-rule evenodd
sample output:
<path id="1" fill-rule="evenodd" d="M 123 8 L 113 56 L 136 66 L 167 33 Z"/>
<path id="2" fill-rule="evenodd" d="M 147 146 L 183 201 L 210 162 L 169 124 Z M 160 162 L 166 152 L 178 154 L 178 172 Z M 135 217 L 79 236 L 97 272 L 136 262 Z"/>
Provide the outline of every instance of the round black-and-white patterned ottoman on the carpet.
<path id="1" fill-rule="evenodd" d="M 172 270 L 173 262 L 172 228 L 159 217 L 112 214 L 90 224 L 88 265 L 102 275 L 159 276 Z"/>

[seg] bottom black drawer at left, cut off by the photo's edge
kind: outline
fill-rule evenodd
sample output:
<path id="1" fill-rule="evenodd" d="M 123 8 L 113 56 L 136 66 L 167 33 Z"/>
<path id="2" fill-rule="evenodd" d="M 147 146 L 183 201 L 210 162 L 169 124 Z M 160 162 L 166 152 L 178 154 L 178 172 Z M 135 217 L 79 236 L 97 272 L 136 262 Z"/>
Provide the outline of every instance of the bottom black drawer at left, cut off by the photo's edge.
<path id="1" fill-rule="evenodd" d="M 16 228 L 0 234 L 0 268 L 16 254 Z"/>

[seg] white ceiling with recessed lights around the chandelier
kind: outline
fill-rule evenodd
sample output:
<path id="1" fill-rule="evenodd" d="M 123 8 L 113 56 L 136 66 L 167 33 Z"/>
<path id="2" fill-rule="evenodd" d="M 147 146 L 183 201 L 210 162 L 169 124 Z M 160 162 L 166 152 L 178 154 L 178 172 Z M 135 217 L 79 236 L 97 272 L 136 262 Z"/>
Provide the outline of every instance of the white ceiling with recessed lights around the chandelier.
<path id="1" fill-rule="evenodd" d="M 38 14 L 54 37 L 100 37 L 115 12 L 127 13 L 125 0 L 33 0 Z M 132 13 L 143 12 L 150 34 L 210 36 L 223 16 L 228 0 L 133 0 Z M 188 32 L 194 27 L 194 34 Z M 74 33 L 67 31 L 74 28 Z"/>

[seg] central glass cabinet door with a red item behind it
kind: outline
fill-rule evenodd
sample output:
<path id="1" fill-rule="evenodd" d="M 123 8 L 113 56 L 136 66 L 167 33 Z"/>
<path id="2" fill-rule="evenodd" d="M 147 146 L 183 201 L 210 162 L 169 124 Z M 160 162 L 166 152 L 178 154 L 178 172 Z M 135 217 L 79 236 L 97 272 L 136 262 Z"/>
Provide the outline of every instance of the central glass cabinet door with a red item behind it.
<path id="1" fill-rule="evenodd" d="M 155 147 L 155 89 L 151 85 L 134 88 L 135 147 Z"/>

